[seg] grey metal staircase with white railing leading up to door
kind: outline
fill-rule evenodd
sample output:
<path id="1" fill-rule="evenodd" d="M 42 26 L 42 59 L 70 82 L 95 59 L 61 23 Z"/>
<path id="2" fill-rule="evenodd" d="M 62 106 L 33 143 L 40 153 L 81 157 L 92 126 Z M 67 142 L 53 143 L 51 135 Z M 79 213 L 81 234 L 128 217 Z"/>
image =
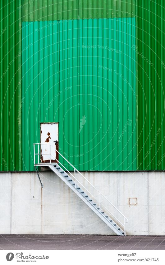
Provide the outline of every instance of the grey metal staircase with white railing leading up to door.
<path id="1" fill-rule="evenodd" d="M 72 189 L 79 197 L 82 199 L 90 209 L 94 211 L 103 221 L 106 223 L 117 235 L 125 236 L 126 235 L 126 226 L 125 224 L 128 222 L 128 219 L 103 195 L 99 192 L 98 189 L 94 187 L 93 184 L 89 182 L 88 179 L 86 179 L 63 155 L 61 155 L 52 145 L 49 143 L 47 144 L 33 144 L 34 145 L 34 166 L 46 166 L 49 167 L 62 181 L 70 188 Z M 35 153 L 35 146 L 38 146 L 38 151 Z M 46 145 L 47 153 L 39 153 L 39 145 L 42 147 L 40 150 L 43 150 L 43 146 Z M 58 152 L 59 157 L 65 160 L 67 164 L 69 164 L 70 167 L 73 168 L 73 172 L 69 172 L 66 167 L 61 164 L 54 156 L 52 156 L 51 150 Z M 50 151 L 50 153 L 48 153 Z M 38 163 L 35 163 L 35 157 L 38 157 Z M 40 156 L 42 155 L 48 155 L 49 161 L 48 162 L 42 162 L 42 159 Z M 52 163 L 51 161 L 56 160 L 57 163 Z M 60 160 L 60 159 L 59 159 Z M 37 172 L 38 173 L 38 172 Z M 38 175 L 39 177 L 39 175 Z M 79 178 L 80 177 L 80 178 Z M 89 186 L 91 186 L 91 189 L 95 190 L 95 195 L 93 195 L 89 189 L 87 189 L 82 182 L 80 181 L 82 179 L 84 182 L 86 182 Z M 40 181 L 41 182 L 41 181 Z M 42 185 L 42 183 L 41 183 Z M 43 187 L 43 186 L 42 186 Z M 96 195 L 97 194 L 97 195 Z M 108 210 L 105 205 L 111 207 L 111 210 Z M 112 209 L 116 211 L 117 217 L 114 216 L 114 213 L 112 213 Z M 124 219 L 124 222 L 121 223 L 119 220 L 122 217 Z M 120 225 L 120 226 L 119 226 Z"/>

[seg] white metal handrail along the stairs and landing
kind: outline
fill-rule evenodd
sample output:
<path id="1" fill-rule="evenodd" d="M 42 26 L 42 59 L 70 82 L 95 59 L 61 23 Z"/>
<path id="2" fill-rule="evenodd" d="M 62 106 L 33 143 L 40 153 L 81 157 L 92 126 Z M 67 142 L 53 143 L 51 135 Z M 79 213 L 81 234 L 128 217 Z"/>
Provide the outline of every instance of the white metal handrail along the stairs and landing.
<path id="1" fill-rule="evenodd" d="M 103 208 L 104 209 L 106 209 L 109 213 L 111 213 L 101 202 L 100 202 L 100 195 L 104 198 L 104 199 L 106 199 L 106 201 L 108 202 L 108 203 L 110 203 L 116 210 L 117 210 L 117 212 L 118 213 L 120 213 L 123 217 L 124 217 L 124 224 L 122 224 L 121 222 L 120 222 L 120 220 L 118 220 L 112 213 L 111 213 L 111 215 L 119 222 L 119 223 L 121 223 L 121 225 L 122 226 L 124 226 L 124 233 L 125 233 L 125 235 L 126 235 L 126 230 L 125 230 L 125 223 L 127 223 L 128 222 L 128 219 L 126 218 L 126 216 L 123 214 L 123 213 L 121 213 L 117 208 L 116 208 L 116 206 L 115 205 L 113 205 L 96 187 L 94 187 L 94 185 L 92 184 L 92 183 L 90 183 L 90 181 L 88 180 L 88 179 L 86 179 L 56 148 L 54 148 L 54 146 L 53 145 L 51 145 L 51 144 L 49 144 L 49 143 L 36 143 L 36 144 L 33 144 L 34 145 L 34 164 L 35 164 L 35 155 L 38 155 L 38 164 L 39 164 L 39 155 L 50 155 L 50 163 L 51 163 L 51 157 L 53 156 L 52 154 L 51 154 L 51 147 L 59 154 L 59 155 L 61 155 L 62 156 L 62 158 L 63 159 L 65 159 L 66 160 L 66 162 L 68 163 L 68 164 L 70 164 L 71 165 L 71 167 L 72 168 L 74 168 L 74 173 L 75 173 L 75 171 L 77 171 L 98 193 L 99 193 L 99 200 L 97 199 L 97 198 L 95 198 L 95 196 L 93 195 L 93 194 L 91 194 L 90 193 L 90 191 L 88 190 L 88 189 L 86 189 L 81 183 L 80 183 L 80 181 L 78 180 L 78 179 L 76 179 L 76 174 L 74 174 L 74 176 L 71 174 L 71 172 L 69 172 L 54 156 L 53 156 L 53 158 L 54 159 L 56 159 L 57 160 L 57 163 L 60 163 L 66 170 L 67 170 L 67 172 L 69 173 L 69 174 L 71 174 L 72 175 L 72 177 L 75 179 L 75 187 L 76 187 L 76 182 L 78 181 L 78 183 L 80 183 L 80 185 L 81 186 L 83 186 L 86 190 L 87 190 L 87 192 L 89 192 L 93 197 L 94 197 L 94 199 L 96 199 L 98 202 L 99 202 L 99 205 L 101 204 L 102 206 L 103 206 Z M 35 145 L 38 145 L 38 153 L 35 153 Z M 48 153 L 48 154 L 41 154 L 41 153 L 39 153 L 39 145 L 49 145 L 50 146 L 50 153 Z M 40 163 L 41 164 L 41 163 Z M 99 206 L 100 207 L 100 206 Z"/>

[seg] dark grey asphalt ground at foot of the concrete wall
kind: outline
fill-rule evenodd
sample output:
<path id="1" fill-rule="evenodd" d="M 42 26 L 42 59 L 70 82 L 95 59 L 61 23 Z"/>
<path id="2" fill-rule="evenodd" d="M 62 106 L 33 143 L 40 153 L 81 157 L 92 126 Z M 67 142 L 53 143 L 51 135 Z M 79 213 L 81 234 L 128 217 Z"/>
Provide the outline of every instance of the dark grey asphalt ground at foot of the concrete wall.
<path id="1" fill-rule="evenodd" d="M 165 249 L 165 236 L 0 235 L 0 249 Z"/>

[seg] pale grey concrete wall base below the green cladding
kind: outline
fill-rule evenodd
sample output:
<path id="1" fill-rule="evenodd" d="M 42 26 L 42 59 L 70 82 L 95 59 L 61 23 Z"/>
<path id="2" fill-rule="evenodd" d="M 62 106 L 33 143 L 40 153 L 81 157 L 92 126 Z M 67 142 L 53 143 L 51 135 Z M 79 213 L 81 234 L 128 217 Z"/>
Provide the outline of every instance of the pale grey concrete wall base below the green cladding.
<path id="1" fill-rule="evenodd" d="M 83 174 L 129 219 L 127 235 L 165 234 L 164 172 Z M 0 173 L 1 234 L 114 234 L 54 173 L 41 180 L 43 189 L 36 173 Z"/>

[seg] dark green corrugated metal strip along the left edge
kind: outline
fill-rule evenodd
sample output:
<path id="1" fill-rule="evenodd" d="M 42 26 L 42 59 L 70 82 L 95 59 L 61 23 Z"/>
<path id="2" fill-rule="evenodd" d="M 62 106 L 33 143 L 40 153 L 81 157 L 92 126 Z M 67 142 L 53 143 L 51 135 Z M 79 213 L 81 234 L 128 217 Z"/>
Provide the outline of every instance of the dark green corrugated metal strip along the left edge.
<path id="1" fill-rule="evenodd" d="M 21 170 L 21 130 L 18 131 L 18 122 L 21 122 L 19 2 L 21 1 L 0 1 L 0 170 L 3 171 Z M 21 123 L 19 126 L 21 127 Z"/>

